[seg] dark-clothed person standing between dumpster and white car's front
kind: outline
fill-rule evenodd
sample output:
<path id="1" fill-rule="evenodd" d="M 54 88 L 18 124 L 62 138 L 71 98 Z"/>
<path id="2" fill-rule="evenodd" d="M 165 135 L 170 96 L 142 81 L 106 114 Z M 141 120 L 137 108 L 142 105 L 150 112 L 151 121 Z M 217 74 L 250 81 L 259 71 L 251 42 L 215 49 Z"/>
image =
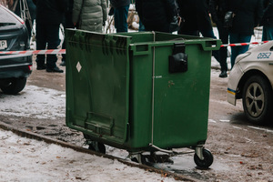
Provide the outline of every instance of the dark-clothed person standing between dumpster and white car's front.
<path id="1" fill-rule="evenodd" d="M 209 0 L 211 19 L 217 25 L 219 39 L 224 45 L 228 44 L 228 30 L 224 27 L 225 14 L 227 12 L 227 0 Z M 227 77 L 227 47 L 220 47 L 219 64 L 221 73 L 219 77 Z"/>

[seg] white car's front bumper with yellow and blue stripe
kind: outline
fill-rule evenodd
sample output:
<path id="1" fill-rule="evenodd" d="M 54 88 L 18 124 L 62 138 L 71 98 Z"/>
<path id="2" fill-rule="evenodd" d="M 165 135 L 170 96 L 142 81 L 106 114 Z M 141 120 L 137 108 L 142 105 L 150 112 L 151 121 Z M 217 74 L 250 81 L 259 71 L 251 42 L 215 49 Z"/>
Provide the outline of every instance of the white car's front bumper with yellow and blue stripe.
<path id="1" fill-rule="evenodd" d="M 243 71 L 239 64 L 233 66 L 231 72 L 229 73 L 227 82 L 227 102 L 236 106 L 238 83 L 243 76 Z"/>

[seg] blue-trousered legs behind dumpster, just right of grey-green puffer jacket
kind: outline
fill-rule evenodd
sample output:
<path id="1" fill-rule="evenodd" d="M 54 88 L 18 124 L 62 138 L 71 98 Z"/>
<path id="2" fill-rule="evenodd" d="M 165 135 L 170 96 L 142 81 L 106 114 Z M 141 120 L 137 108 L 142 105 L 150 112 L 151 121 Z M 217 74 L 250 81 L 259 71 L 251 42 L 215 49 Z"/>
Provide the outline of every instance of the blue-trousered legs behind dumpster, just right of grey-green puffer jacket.
<path id="1" fill-rule="evenodd" d="M 128 24 L 127 24 L 127 16 L 129 11 L 129 5 L 115 8 L 114 20 L 116 32 L 127 32 Z"/>

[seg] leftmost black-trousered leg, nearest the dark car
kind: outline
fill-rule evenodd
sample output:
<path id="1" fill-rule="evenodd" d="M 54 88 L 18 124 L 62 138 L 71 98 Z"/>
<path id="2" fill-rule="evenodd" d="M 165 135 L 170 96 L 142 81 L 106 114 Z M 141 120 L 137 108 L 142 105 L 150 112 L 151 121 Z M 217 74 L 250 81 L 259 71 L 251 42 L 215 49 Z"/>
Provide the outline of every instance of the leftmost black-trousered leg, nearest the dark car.
<path id="1" fill-rule="evenodd" d="M 45 25 L 40 22 L 36 23 L 36 50 L 45 50 L 46 35 Z M 45 55 L 37 55 L 36 57 L 37 70 L 45 69 Z"/>

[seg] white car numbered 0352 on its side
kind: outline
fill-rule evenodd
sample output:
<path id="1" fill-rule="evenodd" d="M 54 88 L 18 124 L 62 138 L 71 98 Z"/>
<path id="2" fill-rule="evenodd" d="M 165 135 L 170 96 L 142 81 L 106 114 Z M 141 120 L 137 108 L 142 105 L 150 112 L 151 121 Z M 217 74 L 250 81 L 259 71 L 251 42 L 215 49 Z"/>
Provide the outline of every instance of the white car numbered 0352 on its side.
<path id="1" fill-rule="evenodd" d="M 228 77 L 227 102 L 236 106 L 239 98 L 250 122 L 273 122 L 273 41 L 236 58 Z"/>

